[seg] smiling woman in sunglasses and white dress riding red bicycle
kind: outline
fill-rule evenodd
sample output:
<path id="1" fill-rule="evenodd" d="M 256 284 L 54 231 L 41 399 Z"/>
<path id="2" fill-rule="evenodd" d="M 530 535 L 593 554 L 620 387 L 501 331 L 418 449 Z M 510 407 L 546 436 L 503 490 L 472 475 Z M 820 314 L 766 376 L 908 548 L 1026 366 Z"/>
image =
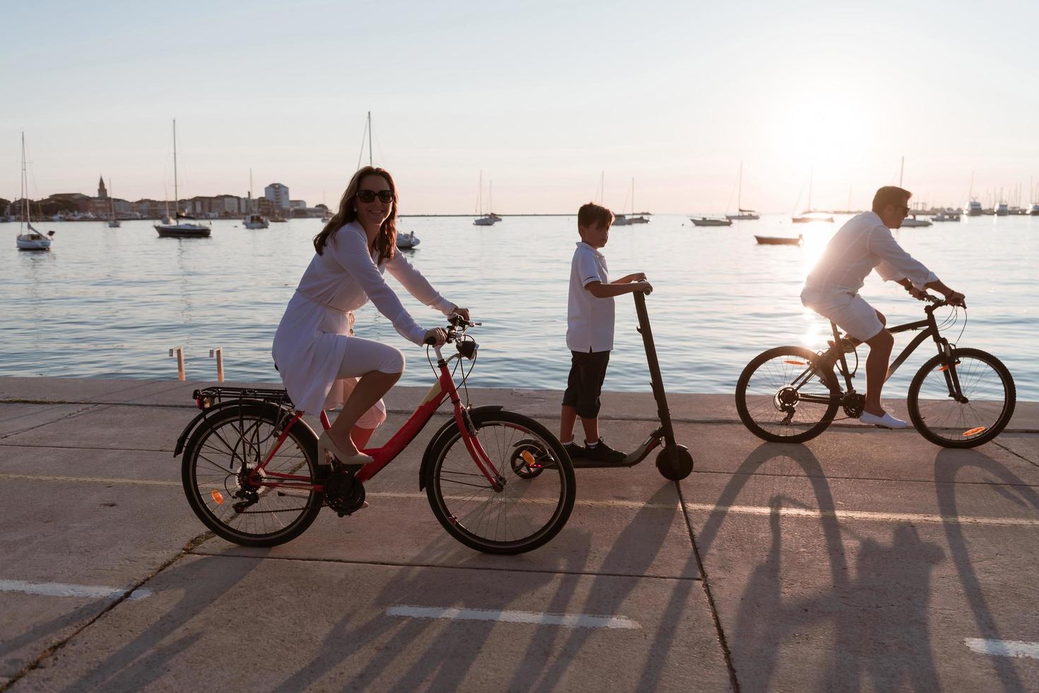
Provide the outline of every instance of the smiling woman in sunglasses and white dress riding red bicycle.
<path id="1" fill-rule="evenodd" d="M 389 269 L 420 301 L 446 316 L 469 319 L 441 296 L 397 252 L 397 188 L 382 168 L 365 166 L 350 180 L 339 211 L 314 238 L 316 255 L 303 272 L 274 335 L 272 353 L 282 382 L 297 409 L 343 410 L 318 439 L 345 464 L 372 461 L 359 453 L 385 421 L 385 395 L 404 371 L 396 347 L 353 337 L 353 311 L 370 298 L 405 339 L 421 346 L 444 344 L 441 328 L 423 329 L 382 278 Z"/>

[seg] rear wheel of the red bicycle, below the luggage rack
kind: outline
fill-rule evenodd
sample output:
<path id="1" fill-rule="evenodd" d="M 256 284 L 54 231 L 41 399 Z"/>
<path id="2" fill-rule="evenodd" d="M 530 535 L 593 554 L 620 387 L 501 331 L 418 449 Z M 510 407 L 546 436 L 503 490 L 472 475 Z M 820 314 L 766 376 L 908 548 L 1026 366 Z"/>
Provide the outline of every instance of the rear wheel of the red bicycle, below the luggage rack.
<path id="1" fill-rule="evenodd" d="M 198 519 L 221 539 L 243 547 L 274 547 L 299 536 L 320 512 L 322 492 L 273 488 L 258 492 L 258 500 L 243 512 L 234 509 L 236 499 L 244 500 L 236 496 L 242 491 L 238 483 L 242 460 L 259 464 L 277 439 L 275 431 L 279 432 L 290 417 L 272 404 L 244 402 L 218 409 L 188 438 L 181 464 L 184 494 Z M 297 421 L 266 469 L 303 476 L 300 470 L 305 467 L 305 475 L 314 479 L 318 476 L 316 462 L 314 432 Z M 294 500 L 281 501 L 285 498 Z M 291 518 L 286 523 L 284 516 Z"/>

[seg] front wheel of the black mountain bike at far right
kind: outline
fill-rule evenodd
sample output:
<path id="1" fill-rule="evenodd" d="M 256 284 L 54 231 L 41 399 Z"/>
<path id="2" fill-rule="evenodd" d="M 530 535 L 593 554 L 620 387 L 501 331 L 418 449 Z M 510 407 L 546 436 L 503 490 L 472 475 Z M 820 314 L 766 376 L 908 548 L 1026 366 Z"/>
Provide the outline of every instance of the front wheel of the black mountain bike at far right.
<path id="1" fill-rule="evenodd" d="M 1010 371 L 980 349 L 953 349 L 928 361 L 909 383 L 909 418 L 920 434 L 943 448 L 975 448 L 998 435 L 1014 416 L 1017 393 Z M 959 382 L 962 400 L 950 383 Z"/>

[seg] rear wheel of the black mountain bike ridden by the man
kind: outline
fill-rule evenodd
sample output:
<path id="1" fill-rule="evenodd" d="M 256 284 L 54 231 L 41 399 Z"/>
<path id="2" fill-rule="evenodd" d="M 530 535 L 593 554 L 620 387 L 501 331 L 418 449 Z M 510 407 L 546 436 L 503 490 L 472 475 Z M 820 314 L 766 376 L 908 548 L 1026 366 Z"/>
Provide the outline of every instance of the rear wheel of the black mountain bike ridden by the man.
<path id="1" fill-rule="evenodd" d="M 802 411 L 803 421 L 784 423 L 787 415 L 780 408 L 780 393 L 807 366 L 815 371 L 807 383 L 811 385 L 811 394 L 830 399 L 826 404 L 804 402 L 797 399 L 800 391 L 791 389 L 792 392 L 791 392 L 793 401 L 789 404 Z M 833 371 L 822 368 L 815 352 L 798 346 L 775 347 L 751 358 L 743 369 L 736 384 L 736 410 L 747 430 L 763 441 L 804 443 L 822 433 L 833 422 L 840 406 L 833 395 L 840 392 Z M 798 403 L 802 406 L 799 407 Z"/>

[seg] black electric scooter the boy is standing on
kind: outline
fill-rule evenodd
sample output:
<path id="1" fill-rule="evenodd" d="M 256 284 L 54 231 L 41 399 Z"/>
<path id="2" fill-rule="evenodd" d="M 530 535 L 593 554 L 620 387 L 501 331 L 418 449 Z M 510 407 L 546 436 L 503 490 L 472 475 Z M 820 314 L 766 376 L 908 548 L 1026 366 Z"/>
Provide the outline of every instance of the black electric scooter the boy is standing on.
<path id="1" fill-rule="evenodd" d="M 667 408 L 667 395 L 664 393 L 664 380 L 660 375 L 660 363 L 657 361 L 657 346 L 652 341 L 652 328 L 649 326 L 649 314 L 646 312 L 645 293 L 636 291 L 632 294 L 635 297 L 635 312 L 639 316 L 639 334 L 642 335 L 642 344 L 646 349 L 646 363 L 649 366 L 649 381 L 652 384 L 652 396 L 657 400 L 657 418 L 660 426 L 657 427 L 645 442 L 629 454 L 622 462 L 601 462 L 584 457 L 577 457 L 570 460 L 574 469 L 588 468 L 613 468 L 613 467 L 635 467 L 645 459 L 655 448 L 663 442 L 663 450 L 657 454 L 657 471 L 665 479 L 678 481 L 688 477 L 693 471 L 693 456 L 684 445 L 678 445 L 674 441 L 674 429 L 671 427 L 671 412 Z"/>

